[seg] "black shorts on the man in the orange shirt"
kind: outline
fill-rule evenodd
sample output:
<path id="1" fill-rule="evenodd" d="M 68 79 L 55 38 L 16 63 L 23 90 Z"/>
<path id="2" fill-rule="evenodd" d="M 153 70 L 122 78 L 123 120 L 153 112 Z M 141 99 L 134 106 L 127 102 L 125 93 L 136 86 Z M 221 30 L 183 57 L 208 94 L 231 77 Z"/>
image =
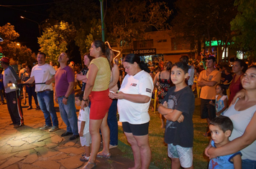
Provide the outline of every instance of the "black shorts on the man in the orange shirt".
<path id="1" fill-rule="evenodd" d="M 216 110 L 213 105 L 210 105 L 210 101 L 215 103 L 215 100 L 201 99 L 201 118 L 213 120 L 216 117 Z"/>

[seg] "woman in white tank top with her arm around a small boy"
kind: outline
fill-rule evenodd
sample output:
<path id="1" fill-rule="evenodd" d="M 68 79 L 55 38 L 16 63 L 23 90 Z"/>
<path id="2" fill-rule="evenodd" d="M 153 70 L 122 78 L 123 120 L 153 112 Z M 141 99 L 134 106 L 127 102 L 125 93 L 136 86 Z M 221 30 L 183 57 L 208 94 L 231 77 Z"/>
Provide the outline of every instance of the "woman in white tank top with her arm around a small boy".
<path id="1" fill-rule="evenodd" d="M 220 148 L 206 148 L 206 155 L 209 158 L 229 155 L 241 150 L 242 168 L 256 168 L 256 66 L 252 66 L 242 77 L 244 97 L 230 105 L 225 112 L 234 125 L 234 130 L 227 145 Z"/>

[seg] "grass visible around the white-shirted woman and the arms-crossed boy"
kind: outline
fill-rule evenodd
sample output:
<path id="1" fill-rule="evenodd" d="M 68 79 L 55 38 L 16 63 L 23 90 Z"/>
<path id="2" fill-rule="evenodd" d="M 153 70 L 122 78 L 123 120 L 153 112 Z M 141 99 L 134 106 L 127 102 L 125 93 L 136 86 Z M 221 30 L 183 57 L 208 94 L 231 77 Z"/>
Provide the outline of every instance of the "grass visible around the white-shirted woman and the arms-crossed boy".
<path id="1" fill-rule="evenodd" d="M 149 139 L 150 148 L 152 151 L 151 163 L 157 168 L 170 168 L 170 158 L 167 154 L 167 145 L 164 143 L 165 130 L 162 129 L 159 113 L 151 111 L 150 107 L 150 127 Z M 193 166 L 195 169 L 208 168 L 209 160 L 204 155 L 204 148 L 209 144 L 209 137 L 204 137 L 206 132 L 206 120 L 200 117 L 200 99 L 196 98 L 196 108 L 193 113 L 193 127 L 194 127 L 194 140 L 193 140 Z M 127 138 L 124 135 L 122 127 L 119 130 L 119 149 L 125 152 L 125 157 L 133 159 L 132 148 L 127 143 Z M 151 167 L 150 167 L 151 168 Z"/>

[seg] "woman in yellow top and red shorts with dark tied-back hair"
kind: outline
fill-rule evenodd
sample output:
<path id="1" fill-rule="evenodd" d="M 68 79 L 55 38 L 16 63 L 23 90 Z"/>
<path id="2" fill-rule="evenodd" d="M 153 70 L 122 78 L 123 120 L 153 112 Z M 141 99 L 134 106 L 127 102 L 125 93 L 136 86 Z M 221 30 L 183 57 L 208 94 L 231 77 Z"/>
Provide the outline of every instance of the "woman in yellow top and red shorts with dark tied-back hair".
<path id="1" fill-rule="evenodd" d="M 81 107 L 88 105 L 91 101 L 90 125 L 91 134 L 91 157 L 83 168 L 94 168 L 96 166 L 96 156 L 110 158 L 109 153 L 109 126 L 107 124 L 108 110 L 112 100 L 109 98 L 109 82 L 111 76 L 111 66 L 109 62 L 109 46 L 104 42 L 96 40 L 91 43 L 90 55 L 95 57 L 91 61 L 87 73 L 88 80 L 83 94 Z M 101 135 L 104 141 L 103 150 L 98 153 Z"/>

